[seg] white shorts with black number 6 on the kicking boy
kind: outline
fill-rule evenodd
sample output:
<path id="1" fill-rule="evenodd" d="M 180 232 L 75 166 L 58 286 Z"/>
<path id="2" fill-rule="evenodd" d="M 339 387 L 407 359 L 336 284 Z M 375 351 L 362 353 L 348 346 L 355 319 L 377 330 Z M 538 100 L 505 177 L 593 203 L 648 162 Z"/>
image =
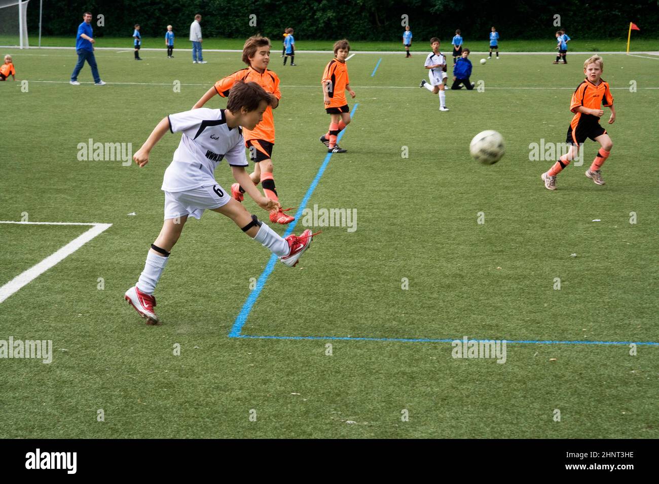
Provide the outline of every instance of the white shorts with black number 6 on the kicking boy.
<path id="1" fill-rule="evenodd" d="M 219 184 L 192 188 L 185 192 L 165 192 L 165 220 L 185 215 L 200 219 L 204 210 L 221 207 L 229 203 L 229 200 L 231 192 Z"/>

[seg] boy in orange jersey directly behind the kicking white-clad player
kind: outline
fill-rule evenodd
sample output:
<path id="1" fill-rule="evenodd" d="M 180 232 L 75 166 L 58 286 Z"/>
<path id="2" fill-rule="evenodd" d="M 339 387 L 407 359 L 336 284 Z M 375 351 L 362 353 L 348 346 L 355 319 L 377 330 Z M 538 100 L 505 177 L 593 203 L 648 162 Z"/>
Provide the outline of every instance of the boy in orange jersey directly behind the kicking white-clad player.
<path id="1" fill-rule="evenodd" d="M 256 125 L 253 130 L 243 130 L 245 146 L 250 151 L 250 159 L 254 162 L 254 173 L 250 175 L 252 182 L 263 186 L 263 193 L 270 200 L 278 201 L 275 179 L 272 175 L 272 149 L 275 145 L 275 121 L 272 110 L 279 105 L 281 92 L 279 92 L 279 78 L 277 74 L 268 70 L 270 63 L 270 39 L 267 37 L 254 36 L 248 38 L 243 46 L 243 62 L 249 67 L 238 70 L 233 74 L 215 82 L 206 94 L 192 107 L 202 107 L 215 94 L 227 97 L 231 87 L 239 80 L 244 82 L 256 82 L 270 94 L 271 103 L 263 114 L 263 121 Z M 238 202 L 243 202 L 244 188 L 238 183 L 231 185 L 231 196 Z M 270 213 L 270 221 L 273 223 L 287 224 L 295 220 L 295 217 L 286 215 L 289 209 L 281 209 Z"/>

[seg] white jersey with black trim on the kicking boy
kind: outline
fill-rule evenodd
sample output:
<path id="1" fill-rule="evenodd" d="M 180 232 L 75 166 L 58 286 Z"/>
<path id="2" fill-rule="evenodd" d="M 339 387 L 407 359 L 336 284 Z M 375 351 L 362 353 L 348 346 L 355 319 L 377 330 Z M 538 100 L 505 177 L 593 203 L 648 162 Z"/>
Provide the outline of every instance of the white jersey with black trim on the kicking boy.
<path id="1" fill-rule="evenodd" d="M 169 115 L 169 130 L 183 132 L 173 161 L 165 170 L 162 190 L 183 192 L 215 184 L 215 168 L 223 159 L 246 167 L 243 129 L 229 128 L 224 109 L 202 107 Z"/>

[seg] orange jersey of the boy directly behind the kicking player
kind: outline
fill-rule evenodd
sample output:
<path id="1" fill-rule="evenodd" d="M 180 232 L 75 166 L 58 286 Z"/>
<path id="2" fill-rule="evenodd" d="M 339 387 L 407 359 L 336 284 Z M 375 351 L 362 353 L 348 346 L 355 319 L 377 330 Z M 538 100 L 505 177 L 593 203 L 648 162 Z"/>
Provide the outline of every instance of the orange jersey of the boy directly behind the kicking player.
<path id="1" fill-rule="evenodd" d="M 277 99 L 281 99 L 281 92 L 279 92 L 279 78 L 277 77 L 277 74 L 268 69 L 266 69 L 263 74 L 260 74 L 258 70 L 254 70 L 251 67 L 237 70 L 233 74 L 215 82 L 215 90 L 217 91 L 217 94 L 222 97 L 227 97 L 229 95 L 229 90 L 231 90 L 233 84 L 238 80 L 243 80 L 244 82 L 256 82 L 256 84 L 264 88 L 266 92 L 275 95 Z M 263 121 L 258 123 L 254 130 L 250 131 L 243 129 L 243 134 L 245 142 L 248 142 L 249 140 L 264 140 L 274 144 L 275 120 L 272 115 L 272 107 L 268 106 L 266 112 L 263 113 Z"/>

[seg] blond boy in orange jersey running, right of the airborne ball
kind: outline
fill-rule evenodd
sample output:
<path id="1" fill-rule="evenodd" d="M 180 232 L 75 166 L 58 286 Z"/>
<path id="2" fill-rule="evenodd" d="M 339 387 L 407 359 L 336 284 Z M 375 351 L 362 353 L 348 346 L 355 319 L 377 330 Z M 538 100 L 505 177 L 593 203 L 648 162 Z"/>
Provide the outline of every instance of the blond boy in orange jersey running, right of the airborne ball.
<path id="1" fill-rule="evenodd" d="M 587 169 L 586 176 L 598 185 L 604 184 L 600 169 L 609 157 L 614 143 L 606 134 L 606 130 L 600 126 L 600 117 L 604 115 L 604 111 L 600 109 L 602 101 L 604 101 L 604 106 L 611 109 L 609 124 L 616 121 L 616 109 L 614 109 L 614 97 L 608 82 L 600 78 L 603 70 L 604 61 L 599 55 L 593 55 L 583 63 L 586 79 L 579 84 L 570 103 L 570 111 L 575 115 L 567 128 L 566 142 L 571 144 L 571 147 L 567 154 L 561 156 L 548 172 L 542 174 L 542 181 L 548 190 L 556 190 L 556 175 L 577 156 L 579 146 L 586 141 L 586 138 L 590 138 L 602 146 L 592 161 L 592 165 Z"/>

